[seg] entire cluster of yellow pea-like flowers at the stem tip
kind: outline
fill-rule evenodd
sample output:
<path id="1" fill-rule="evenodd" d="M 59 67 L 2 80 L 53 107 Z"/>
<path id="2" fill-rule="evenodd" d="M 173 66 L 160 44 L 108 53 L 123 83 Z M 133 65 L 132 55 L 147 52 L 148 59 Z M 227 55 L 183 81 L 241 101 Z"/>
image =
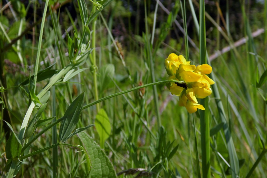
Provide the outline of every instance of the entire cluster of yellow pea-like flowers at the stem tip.
<path id="1" fill-rule="evenodd" d="M 212 68 L 208 64 L 190 65 L 190 61 L 180 55 L 171 53 L 165 59 L 165 68 L 168 73 L 168 80 L 179 80 L 183 83 L 168 83 L 166 86 L 172 95 L 179 96 L 179 106 L 185 106 L 189 113 L 205 108 L 198 104 L 197 98 L 206 98 L 211 94 L 210 85 L 214 81 L 206 74 L 210 74 Z"/>

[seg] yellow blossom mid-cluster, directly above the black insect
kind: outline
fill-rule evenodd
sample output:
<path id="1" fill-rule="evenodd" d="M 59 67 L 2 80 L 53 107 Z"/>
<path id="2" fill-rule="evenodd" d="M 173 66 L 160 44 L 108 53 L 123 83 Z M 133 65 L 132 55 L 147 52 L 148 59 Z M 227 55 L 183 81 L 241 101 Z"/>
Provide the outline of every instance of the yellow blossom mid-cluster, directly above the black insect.
<path id="1" fill-rule="evenodd" d="M 180 64 L 175 77 L 180 80 L 184 80 L 184 82 L 196 82 L 202 77 L 202 75 L 193 72 L 195 69 L 195 65 Z"/>

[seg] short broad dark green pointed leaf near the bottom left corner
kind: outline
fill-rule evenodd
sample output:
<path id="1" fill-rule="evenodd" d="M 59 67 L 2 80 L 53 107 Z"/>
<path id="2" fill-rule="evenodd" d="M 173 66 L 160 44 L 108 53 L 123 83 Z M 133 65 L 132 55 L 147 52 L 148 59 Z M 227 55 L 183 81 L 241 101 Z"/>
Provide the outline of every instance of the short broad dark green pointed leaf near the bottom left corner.
<path id="1" fill-rule="evenodd" d="M 19 156 L 21 152 L 21 144 L 12 132 L 9 139 L 6 142 L 6 158 L 14 159 Z"/>

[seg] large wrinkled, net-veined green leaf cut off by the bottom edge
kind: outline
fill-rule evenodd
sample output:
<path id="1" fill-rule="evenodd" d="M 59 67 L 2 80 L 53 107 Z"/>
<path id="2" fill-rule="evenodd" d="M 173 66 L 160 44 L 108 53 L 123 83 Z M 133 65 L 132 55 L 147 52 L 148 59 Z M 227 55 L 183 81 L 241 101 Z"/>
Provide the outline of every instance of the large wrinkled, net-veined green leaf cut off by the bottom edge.
<path id="1" fill-rule="evenodd" d="M 78 134 L 84 148 L 91 160 L 91 177 L 113 178 L 116 177 L 113 165 L 109 161 L 104 151 L 87 133 Z"/>

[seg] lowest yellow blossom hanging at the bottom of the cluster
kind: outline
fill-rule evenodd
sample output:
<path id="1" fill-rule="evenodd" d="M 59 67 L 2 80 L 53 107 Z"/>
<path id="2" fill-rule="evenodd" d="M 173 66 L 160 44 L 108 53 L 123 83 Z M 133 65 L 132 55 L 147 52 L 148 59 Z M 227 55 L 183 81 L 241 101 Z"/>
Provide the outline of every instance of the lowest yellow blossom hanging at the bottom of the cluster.
<path id="1" fill-rule="evenodd" d="M 182 94 L 180 95 L 179 106 L 185 106 L 188 113 L 194 113 L 197 111 L 197 109 L 205 110 L 205 108 L 202 105 L 191 100 L 191 99 L 195 99 L 195 96 L 193 96 L 192 91 L 188 91 L 188 94 L 186 93 L 187 92 L 182 92 Z M 188 98 L 187 96 L 190 96 L 190 97 L 193 96 L 193 98 Z"/>

